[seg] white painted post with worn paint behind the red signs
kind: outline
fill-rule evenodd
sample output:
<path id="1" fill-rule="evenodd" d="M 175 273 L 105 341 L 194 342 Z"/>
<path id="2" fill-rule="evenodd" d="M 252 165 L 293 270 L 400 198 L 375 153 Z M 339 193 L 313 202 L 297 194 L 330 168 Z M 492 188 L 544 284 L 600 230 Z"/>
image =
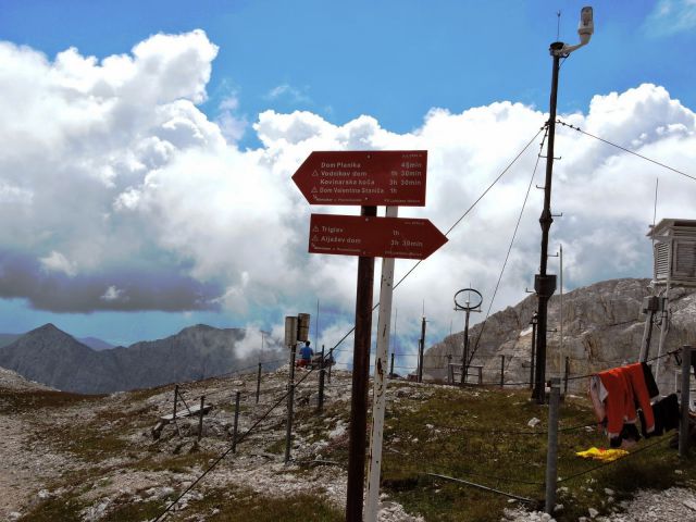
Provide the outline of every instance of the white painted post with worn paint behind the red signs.
<path id="1" fill-rule="evenodd" d="M 396 217 L 398 207 L 387 207 L 386 216 Z M 382 259 L 382 286 L 380 288 L 380 315 L 377 319 L 377 350 L 374 359 L 374 385 L 372 399 L 372 433 L 368 459 L 368 493 L 364 520 L 376 522 L 380 508 L 380 471 L 382 469 L 382 440 L 384 437 L 384 410 L 387 391 L 387 352 L 391 323 L 391 294 L 394 286 L 394 259 Z"/>

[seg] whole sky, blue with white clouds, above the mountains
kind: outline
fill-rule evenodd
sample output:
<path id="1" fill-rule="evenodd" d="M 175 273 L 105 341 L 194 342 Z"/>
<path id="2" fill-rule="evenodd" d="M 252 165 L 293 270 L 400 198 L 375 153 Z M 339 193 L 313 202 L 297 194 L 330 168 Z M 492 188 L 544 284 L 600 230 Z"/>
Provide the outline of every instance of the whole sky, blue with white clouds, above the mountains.
<path id="1" fill-rule="evenodd" d="M 548 45 L 577 41 L 582 3 L 0 7 L 0 332 L 281 332 L 319 301 L 332 344 L 352 324 L 357 260 L 307 253 L 309 214 L 359 210 L 310 209 L 290 176 L 312 150 L 426 149 L 427 204 L 400 215 L 445 232 L 532 141 L 397 289 L 403 351 L 423 309 L 428 340 L 461 330 L 459 288 L 488 308 L 530 184 L 493 310 L 533 286 Z M 595 25 L 562 65 L 560 117 L 696 176 L 696 2 L 601 1 Z M 657 219 L 696 219 L 692 178 L 569 128 L 556 154 L 550 250 L 563 246 L 567 290 L 650 275 L 658 178 Z M 397 261 L 397 277 L 411 266 Z"/>

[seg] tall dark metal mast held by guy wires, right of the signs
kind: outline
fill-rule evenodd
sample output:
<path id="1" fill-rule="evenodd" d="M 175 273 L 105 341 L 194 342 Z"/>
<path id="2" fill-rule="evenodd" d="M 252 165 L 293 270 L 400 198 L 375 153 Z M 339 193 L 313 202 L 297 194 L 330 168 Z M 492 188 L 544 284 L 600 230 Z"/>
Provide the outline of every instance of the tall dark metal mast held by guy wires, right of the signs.
<path id="1" fill-rule="evenodd" d="M 554 57 L 554 69 L 551 75 L 551 98 L 548 116 L 548 146 L 546 150 L 546 182 L 544 184 L 544 210 L 539 217 L 542 225 L 542 256 L 539 273 L 534 277 L 534 290 L 538 297 L 538 326 L 536 336 L 536 402 L 543 405 L 546 397 L 544 383 L 546 380 L 546 331 L 548 330 L 548 301 L 556 291 L 556 276 L 547 275 L 546 265 L 548 262 L 548 233 L 554 223 L 551 216 L 551 181 L 554 177 L 554 144 L 556 139 L 556 103 L 558 99 L 558 71 L 560 50 L 563 48 L 562 41 L 551 44 L 550 51 Z"/>

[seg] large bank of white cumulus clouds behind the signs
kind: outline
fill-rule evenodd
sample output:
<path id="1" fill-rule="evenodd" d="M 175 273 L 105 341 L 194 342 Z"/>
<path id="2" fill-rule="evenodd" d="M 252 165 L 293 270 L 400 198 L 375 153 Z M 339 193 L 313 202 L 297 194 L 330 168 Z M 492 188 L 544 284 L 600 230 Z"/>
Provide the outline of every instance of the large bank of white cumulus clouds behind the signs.
<path id="1" fill-rule="evenodd" d="M 261 146 L 243 150 L 236 98 L 221 105 L 227 123 L 197 107 L 215 54 L 200 30 L 156 35 L 103 60 L 76 49 L 51 60 L 0 44 L 2 297 L 53 311 L 222 308 L 243 322 L 273 318 L 265 324 L 314 310 L 320 299 L 328 346 L 352 319 L 357 260 L 309 256 L 309 215 L 358 209 L 310 208 L 290 181 L 307 156 L 426 149 L 427 206 L 400 215 L 446 231 L 548 117 L 513 101 L 460 113 L 434 108 L 399 134 L 370 115 L 337 124 L 308 111 L 265 111 L 248 129 Z M 695 114 L 664 87 L 597 95 L 585 112 L 560 117 L 694 174 Z M 405 345 L 415 347 L 423 302 L 428 335 L 461 321 L 451 311 L 459 288 L 480 289 L 487 308 L 540 139 L 397 289 Z M 550 249 L 563 244 L 567 287 L 649 276 L 656 178 L 658 219 L 696 217 L 696 183 L 568 127 L 558 128 L 556 152 L 552 210 L 563 216 Z M 543 185 L 543 171 L 544 160 L 533 184 Z M 494 310 L 533 284 L 542 203 L 533 188 Z M 398 260 L 397 277 L 412 265 Z"/>

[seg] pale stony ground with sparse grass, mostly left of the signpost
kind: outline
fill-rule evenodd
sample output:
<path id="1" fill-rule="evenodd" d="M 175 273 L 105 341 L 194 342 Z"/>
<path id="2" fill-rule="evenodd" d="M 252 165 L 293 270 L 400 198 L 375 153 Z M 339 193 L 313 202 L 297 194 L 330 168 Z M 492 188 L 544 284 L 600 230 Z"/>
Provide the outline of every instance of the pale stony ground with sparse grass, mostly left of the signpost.
<path id="1" fill-rule="evenodd" d="M 298 378 L 306 375 L 298 371 Z M 252 517 L 278 498 L 309 499 L 318 509 L 340 511 L 347 480 L 350 374 L 333 372 L 321 414 L 316 413 L 318 372 L 298 387 L 288 465 L 284 463 L 286 383 L 284 369 L 264 374 L 258 403 L 256 374 L 182 386 L 186 405 L 179 402 L 179 411 L 199 403 L 203 395 L 206 403 L 213 405 L 199 440 L 196 418 L 164 425 L 159 437 L 153 436 L 160 417 L 172 411 L 173 386 L 78 396 L 0 372 L 0 520 L 154 520 L 231 447 L 236 391 L 241 398 L 238 436 L 243 437 L 237 451 L 228 452 L 178 500 L 167 520 L 217 520 L 231 507 L 248 509 Z M 434 388 L 399 381 L 388 389 L 391 405 L 410 408 L 427 400 Z M 279 407 L 272 410 L 276 403 Z M 612 502 L 610 493 L 607 502 Z M 696 493 L 684 487 L 641 492 L 633 500 L 614 505 L 612 514 L 588 509 L 586 520 L 696 521 Z M 500 517 L 515 522 L 552 520 L 521 508 L 507 509 Z M 316 514 L 308 520 L 327 519 Z M 423 521 L 384 495 L 378 520 Z"/>

